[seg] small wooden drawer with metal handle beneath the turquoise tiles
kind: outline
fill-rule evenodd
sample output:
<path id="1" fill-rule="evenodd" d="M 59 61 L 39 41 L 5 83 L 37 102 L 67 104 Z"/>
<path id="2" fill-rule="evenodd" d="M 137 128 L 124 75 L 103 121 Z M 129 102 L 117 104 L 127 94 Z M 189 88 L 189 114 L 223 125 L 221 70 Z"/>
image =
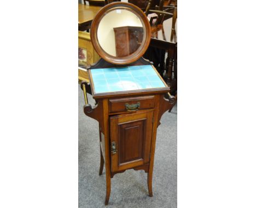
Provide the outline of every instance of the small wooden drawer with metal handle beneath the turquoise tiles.
<path id="1" fill-rule="evenodd" d="M 109 113 L 138 111 L 150 109 L 155 106 L 155 96 L 125 97 L 109 100 Z"/>

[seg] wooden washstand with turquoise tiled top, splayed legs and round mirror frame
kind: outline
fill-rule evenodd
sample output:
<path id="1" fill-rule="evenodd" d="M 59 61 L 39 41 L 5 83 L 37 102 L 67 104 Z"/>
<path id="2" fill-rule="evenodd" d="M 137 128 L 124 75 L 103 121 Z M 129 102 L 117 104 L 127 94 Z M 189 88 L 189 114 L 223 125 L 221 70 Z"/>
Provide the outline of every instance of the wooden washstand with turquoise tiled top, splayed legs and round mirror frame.
<path id="1" fill-rule="evenodd" d="M 138 50 L 125 57 L 106 52 L 108 49 L 100 44 L 97 36 L 101 20 L 118 9 L 137 15 L 144 28 L 143 41 Z M 88 68 L 90 83 L 82 82 L 81 88 L 85 97 L 84 113 L 99 123 L 99 174 L 102 175 L 105 165 L 105 205 L 110 196 L 110 179 L 127 169 L 144 170 L 148 174 L 149 196 L 153 197 L 156 130 L 162 114 L 173 107 L 176 99 L 170 95 L 170 88 L 152 63 L 141 57 L 150 41 L 147 17 L 133 4 L 108 4 L 97 13 L 92 22 L 91 41 L 101 59 Z M 96 100 L 95 106 L 88 103 L 86 91 Z"/>

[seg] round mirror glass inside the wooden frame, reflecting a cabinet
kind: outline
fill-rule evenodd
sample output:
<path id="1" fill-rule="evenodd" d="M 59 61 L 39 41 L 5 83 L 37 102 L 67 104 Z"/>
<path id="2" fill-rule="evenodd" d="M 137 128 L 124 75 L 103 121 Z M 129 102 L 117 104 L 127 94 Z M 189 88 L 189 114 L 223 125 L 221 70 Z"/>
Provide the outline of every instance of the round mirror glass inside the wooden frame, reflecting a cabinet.
<path id="1" fill-rule="evenodd" d="M 146 39 L 141 19 L 126 8 L 114 8 L 105 13 L 98 25 L 97 39 L 111 56 L 126 57 L 134 53 Z"/>

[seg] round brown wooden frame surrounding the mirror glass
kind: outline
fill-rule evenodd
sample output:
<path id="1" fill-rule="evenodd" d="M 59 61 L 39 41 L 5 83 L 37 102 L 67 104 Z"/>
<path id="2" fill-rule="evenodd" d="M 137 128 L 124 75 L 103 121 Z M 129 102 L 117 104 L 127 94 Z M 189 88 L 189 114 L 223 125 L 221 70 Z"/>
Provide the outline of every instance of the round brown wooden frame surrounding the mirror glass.
<path id="1" fill-rule="evenodd" d="M 114 9 L 126 9 L 127 11 L 131 11 L 133 14 L 139 17 L 139 19 L 142 22 L 143 36 L 145 33 L 146 38 L 144 39 L 144 42 L 142 42 L 141 46 L 139 46 L 138 49 L 132 54 L 130 54 L 129 56 L 114 57 L 108 54 L 106 51 L 104 51 L 98 41 L 98 37 L 97 37 L 98 26 L 100 25 L 100 22 L 104 17 L 104 15 L 106 15 L 106 13 Z M 151 34 L 151 29 L 150 29 L 150 24 L 147 16 L 136 5 L 126 3 L 126 2 L 110 3 L 104 6 L 102 9 L 100 9 L 96 14 L 96 16 L 94 17 L 94 20 L 92 21 L 91 30 L 90 30 L 91 43 L 92 43 L 92 46 L 94 46 L 94 49 L 98 53 L 98 55 L 109 63 L 119 64 L 119 65 L 130 64 L 132 62 L 135 62 L 139 58 L 141 58 L 149 46 L 150 34 Z"/>

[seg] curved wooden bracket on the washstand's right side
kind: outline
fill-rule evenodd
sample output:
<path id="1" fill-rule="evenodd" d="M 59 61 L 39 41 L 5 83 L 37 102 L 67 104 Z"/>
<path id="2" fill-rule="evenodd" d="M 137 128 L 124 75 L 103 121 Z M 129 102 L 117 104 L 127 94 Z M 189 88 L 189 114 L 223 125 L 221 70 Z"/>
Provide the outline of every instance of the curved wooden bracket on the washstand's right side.
<path id="1" fill-rule="evenodd" d="M 168 99 L 168 100 L 166 100 Z M 161 124 L 160 119 L 162 117 L 162 114 L 164 114 L 167 110 L 168 112 L 171 112 L 171 109 L 177 102 L 177 96 L 172 96 L 170 94 L 167 94 L 167 97 L 162 95 L 160 96 L 160 109 L 158 114 L 158 126 Z"/>

